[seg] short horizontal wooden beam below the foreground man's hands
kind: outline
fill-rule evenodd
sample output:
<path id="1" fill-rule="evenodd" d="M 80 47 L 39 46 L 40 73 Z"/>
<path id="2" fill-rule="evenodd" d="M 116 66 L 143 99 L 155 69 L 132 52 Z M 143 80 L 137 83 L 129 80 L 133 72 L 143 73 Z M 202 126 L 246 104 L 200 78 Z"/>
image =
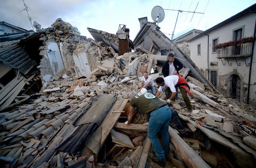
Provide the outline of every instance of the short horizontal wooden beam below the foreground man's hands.
<path id="1" fill-rule="evenodd" d="M 128 131 L 139 131 L 139 132 L 148 132 L 148 125 L 141 125 L 141 124 L 131 124 L 127 125 L 124 123 L 116 123 L 114 126 L 116 130 L 128 130 Z"/>

